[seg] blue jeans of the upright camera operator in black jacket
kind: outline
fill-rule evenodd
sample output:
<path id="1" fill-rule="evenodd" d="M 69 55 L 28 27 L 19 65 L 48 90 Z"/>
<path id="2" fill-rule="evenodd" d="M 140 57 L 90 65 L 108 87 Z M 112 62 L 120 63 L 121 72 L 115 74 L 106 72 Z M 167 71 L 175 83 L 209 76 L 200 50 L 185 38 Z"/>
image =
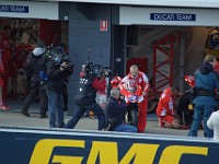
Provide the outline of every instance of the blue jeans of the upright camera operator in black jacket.
<path id="1" fill-rule="evenodd" d="M 64 122 L 64 96 L 62 93 L 47 90 L 49 127 L 62 128 Z"/>

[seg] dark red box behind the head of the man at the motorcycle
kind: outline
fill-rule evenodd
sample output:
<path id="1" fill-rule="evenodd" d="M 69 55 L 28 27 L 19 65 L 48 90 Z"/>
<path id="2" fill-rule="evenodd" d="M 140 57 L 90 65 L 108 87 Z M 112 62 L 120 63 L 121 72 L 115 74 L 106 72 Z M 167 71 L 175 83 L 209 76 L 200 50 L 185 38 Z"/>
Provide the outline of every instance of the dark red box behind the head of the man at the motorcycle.
<path id="1" fill-rule="evenodd" d="M 148 68 L 148 59 L 147 58 L 131 58 L 126 63 L 126 73 L 129 72 L 129 68 L 131 65 L 138 65 L 139 70 L 147 73 Z"/>

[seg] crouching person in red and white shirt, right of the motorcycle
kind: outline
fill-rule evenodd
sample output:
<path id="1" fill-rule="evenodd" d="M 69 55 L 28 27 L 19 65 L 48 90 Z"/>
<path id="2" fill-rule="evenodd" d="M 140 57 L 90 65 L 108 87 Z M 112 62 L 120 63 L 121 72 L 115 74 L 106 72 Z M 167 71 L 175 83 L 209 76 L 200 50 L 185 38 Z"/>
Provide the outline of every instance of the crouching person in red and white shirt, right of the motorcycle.
<path id="1" fill-rule="evenodd" d="M 181 93 L 176 87 L 166 87 L 162 92 L 157 107 L 160 127 L 178 129 L 182 126 L 175 118 L 175 97 Z"/>

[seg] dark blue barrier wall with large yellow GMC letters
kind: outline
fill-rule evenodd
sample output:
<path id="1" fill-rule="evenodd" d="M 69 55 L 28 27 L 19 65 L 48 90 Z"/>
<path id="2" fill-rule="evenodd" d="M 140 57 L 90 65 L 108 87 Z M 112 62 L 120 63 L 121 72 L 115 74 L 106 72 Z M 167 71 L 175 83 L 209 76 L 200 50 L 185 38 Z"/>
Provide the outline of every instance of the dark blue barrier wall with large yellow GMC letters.
<path id="1" fill-rule="evenodd" d="M 7 164 L 214 164 L 219 142 L 187 137 L 0 128 Z"/>

